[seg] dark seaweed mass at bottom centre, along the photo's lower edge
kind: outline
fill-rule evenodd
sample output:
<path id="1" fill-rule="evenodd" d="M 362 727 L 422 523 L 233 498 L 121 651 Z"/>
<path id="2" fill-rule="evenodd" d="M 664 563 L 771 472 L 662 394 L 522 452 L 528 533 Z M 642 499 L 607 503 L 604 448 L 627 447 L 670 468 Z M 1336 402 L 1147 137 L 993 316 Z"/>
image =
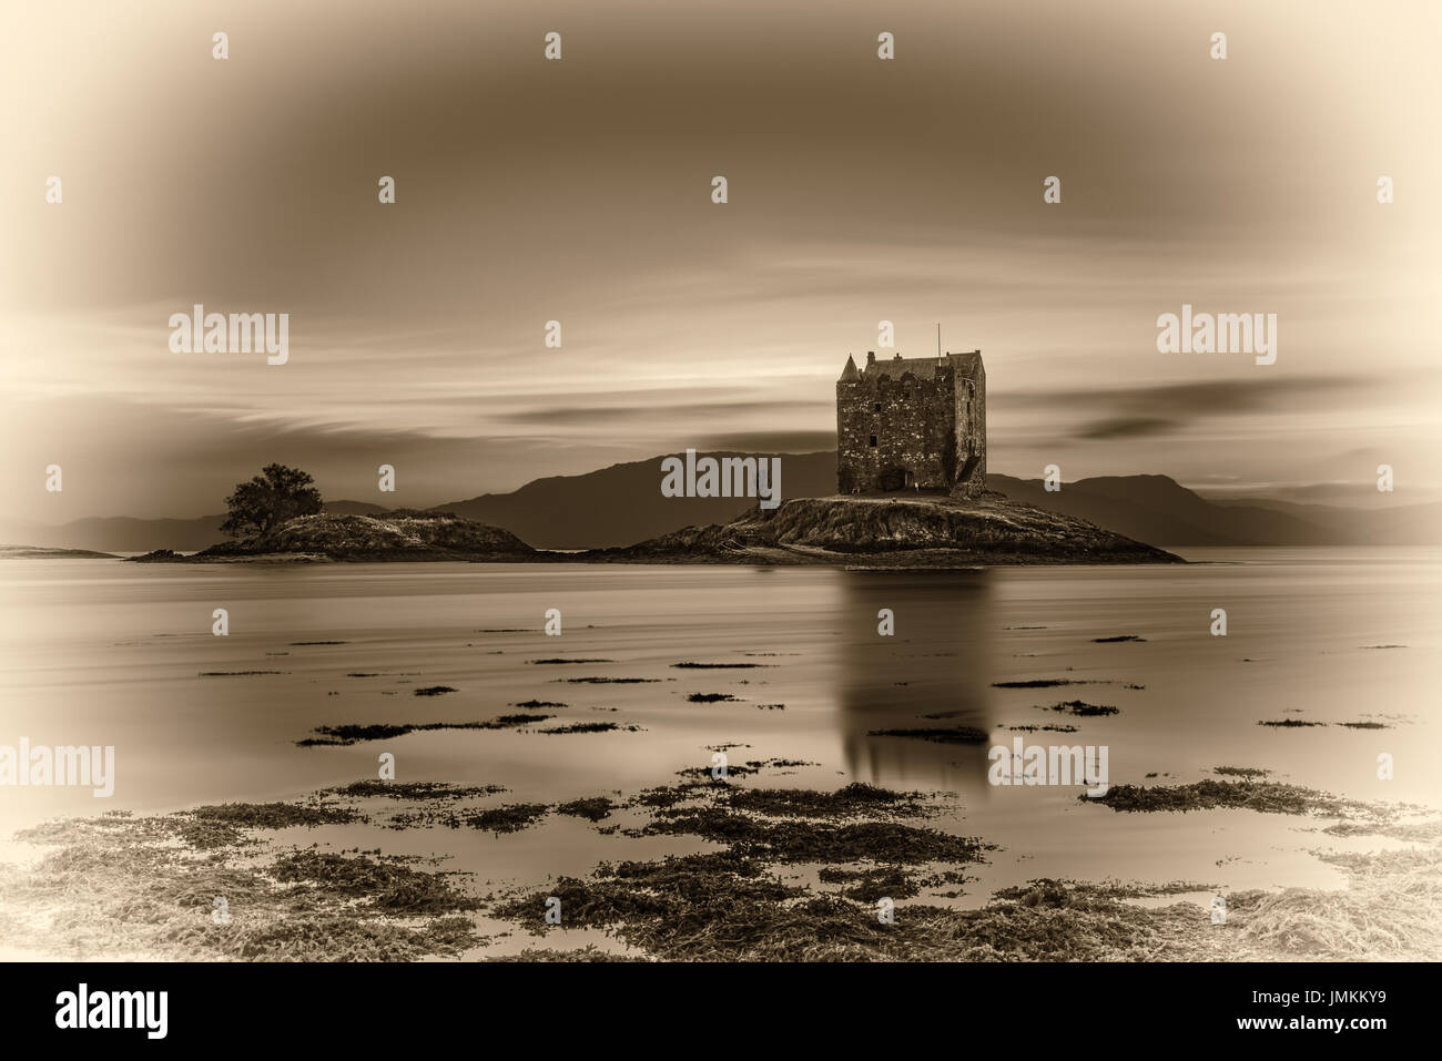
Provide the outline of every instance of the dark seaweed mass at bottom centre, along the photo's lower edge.
<path id="1" fill-rule="evenodd" d="M 567 925 L 601 928 L 662 960 L 708 962 L 1056 962 L 1182 956 L 1200 936 L 1195 907 L 1145 910 L 1086 888 L 1047 889 L 1044 900 L 999 898 L 981 910 L 898 905 L 890 924 L 877 900 L 914 894 L 895 866 L 823 869 L 841 894 L 782 881 L 734 851 L 603 865 L 590 878 L 562 876 L 544 891 L 497 904 L 495 917 L 532 931 L 545 901 L 561 900 Z M 1185 946 L 1182 943 L 1182 946 Z M 1195 956 L 1195 944 L 1188 947 Z"/>

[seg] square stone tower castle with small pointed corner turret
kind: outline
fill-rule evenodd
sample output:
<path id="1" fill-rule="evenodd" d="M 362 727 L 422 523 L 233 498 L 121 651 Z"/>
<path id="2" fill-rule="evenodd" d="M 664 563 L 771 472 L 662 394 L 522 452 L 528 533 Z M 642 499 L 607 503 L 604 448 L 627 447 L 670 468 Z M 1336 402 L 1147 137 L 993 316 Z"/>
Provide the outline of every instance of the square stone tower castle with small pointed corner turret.
<path id="1" fill-rule="evenodd" d="M 877 360 L 851 355 L 836 381 L 836 490 L 986 489 L 982 352 Z"/>

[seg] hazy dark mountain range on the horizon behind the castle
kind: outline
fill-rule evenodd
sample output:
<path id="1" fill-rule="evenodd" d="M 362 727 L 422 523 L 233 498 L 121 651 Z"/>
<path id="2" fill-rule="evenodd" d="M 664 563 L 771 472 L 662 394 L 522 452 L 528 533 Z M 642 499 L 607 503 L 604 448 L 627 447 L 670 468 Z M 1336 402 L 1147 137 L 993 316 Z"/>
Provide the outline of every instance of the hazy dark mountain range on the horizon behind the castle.
<path id="1" fill-rule="evenodd" d="M 702 454 L 704 456 L 704 454 Z M 712 457 L 747 454 L 712 453 Z M 756 506 L 746 497 L 663 497 L 660 457 L 613 464 L 580 476 L 536 479 L 510 493 L 487 493 L 431 512 L 454 512 L 505 528 L 542 549 L 634 545 L 685 526 L 725 523 Z M 783 497 L 829 497 L 836 492 L 836 454 L 782 457 Z M 1438 545 L 1442 503 L 1340 507 L 1273 500 L 1207 499 L 1167 476 L 1103 476 L 1048 492 L 1040 479 L 988 474 L 992 490 L 1066 516 L 1090 520 L 1141 542 L 1180 545 Z M 326 512 L 373 515 L 395 507 L 326 502 Z M 0 523 L 0 541 L 17 545 L 146 552 L 190 552 L 224 539 L 224 515 L 198 519 L 92 516 L 62 525 Z"/>

